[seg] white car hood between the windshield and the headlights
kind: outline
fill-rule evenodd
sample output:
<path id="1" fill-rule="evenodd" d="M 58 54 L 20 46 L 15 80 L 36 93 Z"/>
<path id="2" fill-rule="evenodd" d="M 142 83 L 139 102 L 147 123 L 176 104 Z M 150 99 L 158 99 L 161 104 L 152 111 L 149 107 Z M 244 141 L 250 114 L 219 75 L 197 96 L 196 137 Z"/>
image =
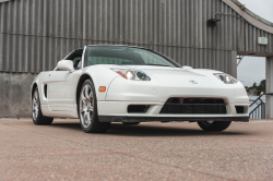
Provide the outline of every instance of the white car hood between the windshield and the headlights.
<path id="1" fill-rule="evenodd" d="M 152 67 L 152 65 L 106 65 L 109 69 L 132 69 L 140 70 L 146 73 L 151 77 L 156 77 L 159 80 L 165 79 L 213 79 L 214 73 L 222 73 L 214 70 L 205 69 L 183 69 L 183 68 L 169 68 L 169 67 Z"/>

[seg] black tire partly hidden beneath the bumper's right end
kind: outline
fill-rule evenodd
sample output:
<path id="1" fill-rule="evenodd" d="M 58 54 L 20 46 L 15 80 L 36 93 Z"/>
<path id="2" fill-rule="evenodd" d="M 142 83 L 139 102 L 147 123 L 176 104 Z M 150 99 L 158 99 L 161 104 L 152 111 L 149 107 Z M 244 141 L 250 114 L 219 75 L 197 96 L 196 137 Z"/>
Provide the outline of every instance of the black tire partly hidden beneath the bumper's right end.
<path id="1" fill-rule="evenodd" d="M 199 126 L 204 131 L 224 131 L 230 125 L 232 121 L 199 121 Z"/>

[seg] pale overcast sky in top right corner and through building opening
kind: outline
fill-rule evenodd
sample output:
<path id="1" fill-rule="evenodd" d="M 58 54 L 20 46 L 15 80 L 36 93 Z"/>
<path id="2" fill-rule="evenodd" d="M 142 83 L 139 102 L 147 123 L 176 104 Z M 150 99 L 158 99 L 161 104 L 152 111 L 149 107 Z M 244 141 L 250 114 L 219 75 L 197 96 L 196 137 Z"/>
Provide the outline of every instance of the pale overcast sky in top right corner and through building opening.
<path id="1" fill-rule="evenodd" d="M 250 11 L 273 22 L 273 0 L 239 0 Z M 238 80 L 246 86 L 265 80 L 265 58 L 245 57 L 238 65 Z"/>

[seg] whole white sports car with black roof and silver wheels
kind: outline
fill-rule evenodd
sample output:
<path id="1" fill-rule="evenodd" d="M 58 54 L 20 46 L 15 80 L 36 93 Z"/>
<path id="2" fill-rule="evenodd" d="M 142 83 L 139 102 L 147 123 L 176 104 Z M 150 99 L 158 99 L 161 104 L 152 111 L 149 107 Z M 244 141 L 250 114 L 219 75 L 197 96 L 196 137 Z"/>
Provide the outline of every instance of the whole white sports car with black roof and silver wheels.
<path id="1" fill-rule="evenodd" d="M 190 121 L 223 131 L 232 121 L 249 121 L 249 98 L 236 79 L 139 47 L 76 49 L 31 88 L 35 124 L 80 118 L 86 133 L 106 132 L 111 122 Z"/>

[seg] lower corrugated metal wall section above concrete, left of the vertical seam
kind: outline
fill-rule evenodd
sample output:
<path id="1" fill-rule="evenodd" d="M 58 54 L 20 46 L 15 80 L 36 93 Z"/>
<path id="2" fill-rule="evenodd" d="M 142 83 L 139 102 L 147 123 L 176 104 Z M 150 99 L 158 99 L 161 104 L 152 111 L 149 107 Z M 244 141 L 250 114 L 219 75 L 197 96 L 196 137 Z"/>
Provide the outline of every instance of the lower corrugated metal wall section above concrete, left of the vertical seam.
<path id="1" fill-rule="evenodd" d="M 52 70 L 57 62 L 73 49 L 83 47 L 82 39 L 1 35 L 1 69 L 5 72 L 40 72 Z"/>

